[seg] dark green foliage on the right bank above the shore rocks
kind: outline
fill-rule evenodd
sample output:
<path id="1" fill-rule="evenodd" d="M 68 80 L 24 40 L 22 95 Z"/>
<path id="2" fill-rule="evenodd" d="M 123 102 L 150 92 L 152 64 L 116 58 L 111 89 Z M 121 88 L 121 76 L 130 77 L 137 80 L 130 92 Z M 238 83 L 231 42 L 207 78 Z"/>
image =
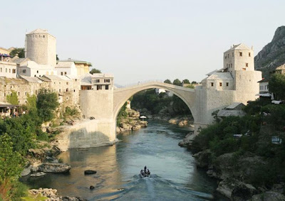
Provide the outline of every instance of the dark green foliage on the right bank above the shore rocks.
<path id="1" fill-rule="evenodd" d="M 285 105 L 259 99 L 249 102 L 244 110 L 247 116 L 229 116 L 202 129 L 192 148 L 194 151 L 209 149 L 212 163 L 224 153 L 234 153 L 236 161 L 254 153 L 263 158 L 264 165 L 252 167 L 256 170 L 250 178 L 244 178 L 247 182 L 259 186 L 285 181 Z M 234 134 L 242 136 L 234 138 Z M 271 143 L 271 136 L 279 136 L 282 143 Z"/>

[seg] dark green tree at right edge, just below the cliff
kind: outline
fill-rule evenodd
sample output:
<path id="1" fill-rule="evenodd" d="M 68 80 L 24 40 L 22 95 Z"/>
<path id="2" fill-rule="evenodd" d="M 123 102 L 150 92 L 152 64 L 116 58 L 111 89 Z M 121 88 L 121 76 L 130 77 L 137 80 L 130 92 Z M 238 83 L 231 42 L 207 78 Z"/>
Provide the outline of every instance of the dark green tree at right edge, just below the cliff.
<path id="1" fill-rule="evenodd" d="M 285 75 L 274 74 L 269 80 L 269 91 L 273 92 L 276 99 L 285 99 Z"/>

